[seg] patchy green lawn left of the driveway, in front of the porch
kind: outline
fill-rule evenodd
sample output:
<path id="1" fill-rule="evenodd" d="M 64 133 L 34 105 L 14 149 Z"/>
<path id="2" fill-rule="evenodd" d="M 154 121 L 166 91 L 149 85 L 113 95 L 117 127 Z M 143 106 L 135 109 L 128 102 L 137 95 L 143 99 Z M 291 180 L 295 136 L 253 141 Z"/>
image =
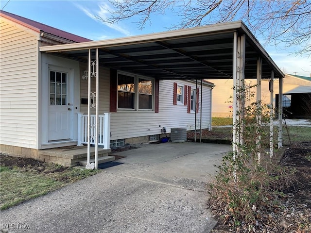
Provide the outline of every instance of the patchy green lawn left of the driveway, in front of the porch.
<path id="1" fill-rule="evenodd" d="M 42 163 L 42 165 L 44 169 L 40 169 L 40 171 L 31 166 L 0 166 L 0 210 L 5 210 L 25 200 L 39 197 L 66 184 L 100 172 L 99 170 L 61 167 L 48 163 Z"/>

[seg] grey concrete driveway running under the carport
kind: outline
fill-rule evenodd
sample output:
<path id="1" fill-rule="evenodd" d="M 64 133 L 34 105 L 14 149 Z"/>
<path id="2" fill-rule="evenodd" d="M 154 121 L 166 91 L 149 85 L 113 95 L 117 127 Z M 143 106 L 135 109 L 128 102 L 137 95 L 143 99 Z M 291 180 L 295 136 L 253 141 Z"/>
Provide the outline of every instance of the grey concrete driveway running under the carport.
<path id="1" fill-rule="evenodd" d="M 1 231 L 208 233 L 206 183 L 230 150 L 169 142 L 116 153 L 123 164 L 1 211 Z"/>

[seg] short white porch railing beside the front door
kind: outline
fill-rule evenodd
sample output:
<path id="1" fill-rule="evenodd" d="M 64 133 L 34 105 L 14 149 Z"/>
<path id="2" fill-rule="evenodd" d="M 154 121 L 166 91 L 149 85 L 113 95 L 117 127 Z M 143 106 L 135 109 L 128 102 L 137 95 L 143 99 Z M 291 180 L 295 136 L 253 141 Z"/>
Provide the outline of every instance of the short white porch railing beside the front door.
<path id="1" fill-rule="evenodd" d="M 95 115 L 91 115 L 90 125 L 95 125 Z M 78 113 L 78 146 L 87 144 L 87 115 Z M 90 144 L 95 145 L 95 127 L 90 128 Z M 110 148 L 110 113 L 98 116 L 98 145 L 104 149 Z"/>

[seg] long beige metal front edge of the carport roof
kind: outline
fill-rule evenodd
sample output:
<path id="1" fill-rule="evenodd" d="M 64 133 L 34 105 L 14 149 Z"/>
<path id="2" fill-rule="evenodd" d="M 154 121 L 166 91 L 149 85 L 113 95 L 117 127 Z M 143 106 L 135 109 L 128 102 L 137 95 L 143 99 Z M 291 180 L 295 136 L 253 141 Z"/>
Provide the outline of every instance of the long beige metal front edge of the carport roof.
<path id="1" fill-rule="evenodd" d="M 179 29 L 174 31 L 160 32 L 160 33 L 150 33 L 142 34 L 128 37 L 121 37 L 108 40 L 98 40 L 98 41 L 89 41 L 89 42 L 80 42 L 75 43 L 74 45 L 54 45 L 54 46 L 43 46 L 40 47 L 41 52 L 60 52 L 60 51 L 69 51 L 69 50 L 85 50 L 91 48 L 100 48 L 100 47 L 112 47 L 112 46 L 123 46 L 130 44 L 138 43 L 147 43 L 158 40 L 165 39 L 174 39 L 180 36 L 197 36 L 200 34 L 206 33 L 221 33 L 221 32 L 234 32 L 237 29 L 241 28 L 242 21 L 234 21 L 227 23 L 212 24 L 202 27 Z"/>

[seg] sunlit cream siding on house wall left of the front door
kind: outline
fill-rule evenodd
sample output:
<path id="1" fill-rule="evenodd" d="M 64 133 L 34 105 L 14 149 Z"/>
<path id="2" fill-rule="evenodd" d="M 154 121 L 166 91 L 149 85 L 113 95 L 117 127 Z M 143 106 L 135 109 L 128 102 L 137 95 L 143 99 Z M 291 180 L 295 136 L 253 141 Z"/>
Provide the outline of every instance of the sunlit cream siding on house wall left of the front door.
<path id="1" fill-rule="evenodd" d="M 0 30 L 0 143 L 36 149 L 37 37 L 2 18 Z"/>

